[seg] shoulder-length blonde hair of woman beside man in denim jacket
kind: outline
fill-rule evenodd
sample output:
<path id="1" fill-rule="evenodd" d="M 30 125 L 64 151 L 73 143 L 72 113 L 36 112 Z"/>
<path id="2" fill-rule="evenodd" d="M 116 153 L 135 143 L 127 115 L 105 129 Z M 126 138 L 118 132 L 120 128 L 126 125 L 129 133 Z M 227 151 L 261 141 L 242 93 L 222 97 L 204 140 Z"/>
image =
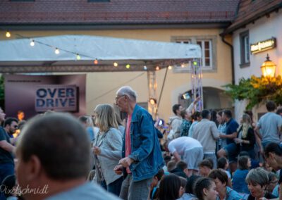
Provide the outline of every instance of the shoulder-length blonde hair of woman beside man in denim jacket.
<path id="1" fill-rule="evenodd" d="M 106 132 L 111 127 L 118 128 L 114 108 L 110 104 L 99 104 L 94 109 L 95 124 L 102 132 Z"/>

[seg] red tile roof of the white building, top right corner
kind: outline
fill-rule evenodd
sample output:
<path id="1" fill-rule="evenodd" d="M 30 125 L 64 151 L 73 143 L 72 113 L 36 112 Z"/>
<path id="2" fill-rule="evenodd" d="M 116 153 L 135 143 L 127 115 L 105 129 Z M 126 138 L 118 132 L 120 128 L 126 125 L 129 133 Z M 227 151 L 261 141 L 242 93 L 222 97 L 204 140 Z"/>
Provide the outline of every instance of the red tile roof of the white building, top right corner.
<path id="1" fill-rule="evenodd" d="M 282 8 L 282 0 L 241 0 L 235 20 L 224 32 L 228 34 L 238 30 L 258 18 Z"/>

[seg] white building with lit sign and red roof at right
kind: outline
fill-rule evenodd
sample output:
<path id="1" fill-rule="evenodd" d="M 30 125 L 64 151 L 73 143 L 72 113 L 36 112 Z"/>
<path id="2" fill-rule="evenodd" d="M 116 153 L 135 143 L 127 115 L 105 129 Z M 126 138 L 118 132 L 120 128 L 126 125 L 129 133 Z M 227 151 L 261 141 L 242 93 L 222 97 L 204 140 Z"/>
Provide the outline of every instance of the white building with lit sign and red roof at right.
<path id="1" fill-rule="evenodd" d="M 261 65 L 269 55 L 276 63 L 276 75 L 282 75 L 281 1 L 240 1 L 238 14 L 224 32 L 232 34 L 235 83 L 252 75 L 262 76 Z M 246 101 L 235 101 L 235 117 L 245 111 Z M 252 109 L 255 120 L 266 112 L 264 104 Z"/>

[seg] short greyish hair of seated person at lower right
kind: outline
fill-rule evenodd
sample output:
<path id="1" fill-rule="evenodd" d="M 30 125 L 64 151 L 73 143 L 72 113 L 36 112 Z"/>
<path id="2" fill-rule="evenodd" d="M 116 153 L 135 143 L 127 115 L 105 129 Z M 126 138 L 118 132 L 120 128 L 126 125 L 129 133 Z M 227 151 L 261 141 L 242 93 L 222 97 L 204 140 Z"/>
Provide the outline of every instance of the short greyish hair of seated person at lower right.
<path id="1" fill-rule="evenodd" d="M 247 184 L 260 185 L 261 187 L 269 184 L 269 176 L 263 168 L 250 170 L 246 177 Z"/>

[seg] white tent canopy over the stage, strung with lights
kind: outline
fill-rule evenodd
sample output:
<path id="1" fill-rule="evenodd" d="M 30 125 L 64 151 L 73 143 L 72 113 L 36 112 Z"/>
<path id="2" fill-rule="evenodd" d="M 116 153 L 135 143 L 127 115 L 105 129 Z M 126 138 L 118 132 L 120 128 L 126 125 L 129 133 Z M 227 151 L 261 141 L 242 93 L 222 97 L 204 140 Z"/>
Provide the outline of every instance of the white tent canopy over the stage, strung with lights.
<path id="1" fill-rule="evenodd" d="M 32 40 L 34 46 L 30 45 Z M 55 54 L 58 48 L 60 53 Z M 77 54 L 80 56 L 78 60 Z M 88 35 L 60 35 L 0 41 L 0 72 L 121 71 L 165 68 L 201 58 L 200 46 Z M 98 64 L 93 61 L 97 59 Z M 118 67 L 114 68 L 113 63 Z M 125 65 L 130 64 L 130 69 Z"/>

